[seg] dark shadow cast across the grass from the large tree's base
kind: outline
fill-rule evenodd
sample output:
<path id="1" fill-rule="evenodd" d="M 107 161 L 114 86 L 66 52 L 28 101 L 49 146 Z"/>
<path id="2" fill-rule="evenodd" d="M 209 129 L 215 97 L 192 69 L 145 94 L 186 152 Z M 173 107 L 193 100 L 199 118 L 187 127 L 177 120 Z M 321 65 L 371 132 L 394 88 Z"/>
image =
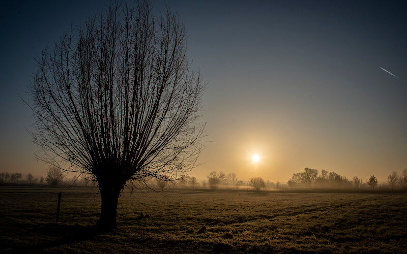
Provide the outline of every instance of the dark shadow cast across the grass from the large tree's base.
<path id="1" fill-rule="evenodd" d="M 95 236 L 108 233 L 108 231 L 97 226 L 68 225 L 51 223 L 37 229 L 41 235 L 56 237 L 55 240 L 39 242 L 33 245 L 21 246 L 9 249 L 9 253 L 44 252 L 47 248 L 57 247 L 63 244 L 76 243 L 89 240 Z M 32 232 L 36 234 L 37 232 Z"/>

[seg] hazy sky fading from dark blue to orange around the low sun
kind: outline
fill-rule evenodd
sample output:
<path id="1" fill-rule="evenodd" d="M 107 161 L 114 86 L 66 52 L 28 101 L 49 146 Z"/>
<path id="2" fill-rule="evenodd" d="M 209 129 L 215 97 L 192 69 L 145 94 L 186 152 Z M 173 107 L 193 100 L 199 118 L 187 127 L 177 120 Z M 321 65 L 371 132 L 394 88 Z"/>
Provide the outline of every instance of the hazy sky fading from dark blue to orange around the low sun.
<path id="1" fill-rule="evenodd" d="M 382 182 L 407 167 L 407 2 L 169 3 L 188 28 L 193 66 L 209 82 L 201 121 L 210 142 L 192 175 L 286 181 L 310 167 Z M 0 3 L 0 171 L 45 174 L 18 94 L 28 98 L 33 57 L 101 7 Z"/>

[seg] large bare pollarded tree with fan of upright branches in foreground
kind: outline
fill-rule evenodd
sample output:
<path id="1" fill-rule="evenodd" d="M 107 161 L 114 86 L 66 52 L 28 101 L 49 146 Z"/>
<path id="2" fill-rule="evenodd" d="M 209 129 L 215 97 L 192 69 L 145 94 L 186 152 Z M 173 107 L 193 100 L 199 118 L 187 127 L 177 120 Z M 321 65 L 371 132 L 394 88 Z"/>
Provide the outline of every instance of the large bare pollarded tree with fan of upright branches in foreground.
<path id="1" fill-rule="evenodd" d="M 94 175 L 99 225 L 117 225 L 127 181 L 184 178 L 196 166 L 205 85 L 190 70 L 186 28 L 168 9 L 111 5 L 37 59 L 30 92 L 41 160 Z"/>

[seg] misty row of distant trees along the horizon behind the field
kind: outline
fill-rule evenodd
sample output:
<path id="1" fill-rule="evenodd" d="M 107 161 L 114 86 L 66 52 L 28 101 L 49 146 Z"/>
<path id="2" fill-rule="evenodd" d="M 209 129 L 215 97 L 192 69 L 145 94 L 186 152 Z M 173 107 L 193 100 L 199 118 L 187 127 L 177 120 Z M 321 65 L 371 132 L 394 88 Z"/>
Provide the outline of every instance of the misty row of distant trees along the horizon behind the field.
<path id="1" fill-rule="evenodd" d="M 131 191 L 135 189 L 146 189 L 150 187 L 157 188 L 163 191 L 166 188 L 228 188 L 239 189 L 241 187 L 246 189 L 253 189 L 256 191 L 266 189 L 276 190 L 292 190 L 294 189 L 377 189 L 380 190 L 407 190 L 407 169 L 404 169 L 400 174 L 393 171 L 387 177 L 387 184 L 379 184 L 377 178 L 371 175 L 366 181 L 355 176 L 352 179 L 348 179 L 345 176 L 341 176 L 335 172 L 328 172 L 323 169 L 318 171 L 316 169 L 305 168 L 304 171 L 293 174 L 293 177 L 288 179 L 286 183 L 280 181 L 271 182 L 270 180 L 264 180 L 261 177 L 251 177 L 249 180 L 239 180 L 236 173 L 224 173 L 222 171 L 212 171 L 207 176 L 207 180 L 198 182 L 194 176 L 186 176 L 177 181 L 168 181 L 163 179 L 157 179 L 151 177 L 150 179 L 144 179 L 144 184 L 131 183 Z M 51 167 L 47 170 L 47 174 L 41 177 L 35 177 L 31 173 L 28 173 L 23 177 L 21 173 L 0 173 L 0 184 L 24 184 L 24 185 L 42 185 L 47 184 L 51 187 L 59 185 L 65 186 L 85 186 L 95 187 L 96 182 L 92 176 L 75 176 L 72 179 L 64 177 L 62 170 Z"/>

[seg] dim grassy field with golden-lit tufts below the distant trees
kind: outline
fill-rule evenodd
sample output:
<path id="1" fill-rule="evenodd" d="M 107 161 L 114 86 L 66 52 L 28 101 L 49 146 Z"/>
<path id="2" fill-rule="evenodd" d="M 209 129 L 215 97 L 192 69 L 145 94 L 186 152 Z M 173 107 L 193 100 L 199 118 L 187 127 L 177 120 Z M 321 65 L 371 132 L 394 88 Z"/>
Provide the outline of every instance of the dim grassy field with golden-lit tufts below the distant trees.
<path id="1" fill-rule="evenodd" d="M 55 223 L 57 192 L 60 222 Z M 92 189 L 0 188 L 2 251 L 405 252 L 406 194 L 124 193 L 119 228 L 93 225 Z"/>

